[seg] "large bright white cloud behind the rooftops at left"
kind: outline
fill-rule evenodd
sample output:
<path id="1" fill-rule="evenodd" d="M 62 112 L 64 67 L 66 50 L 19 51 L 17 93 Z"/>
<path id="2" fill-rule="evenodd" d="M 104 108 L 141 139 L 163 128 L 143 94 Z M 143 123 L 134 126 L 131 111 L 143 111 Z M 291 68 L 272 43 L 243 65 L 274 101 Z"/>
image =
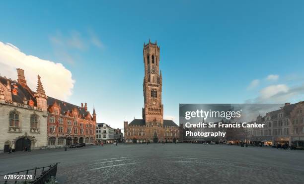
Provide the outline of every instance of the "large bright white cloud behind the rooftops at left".
<path id="1" fill-rule="evenodd" d="M 0 42 L 0 68 L 0 75 L 11 79 L 17 79 L 16 68 L 24 69 L 27 85 L 33 91 L 39 74 L 48 96 L 66 100 L 72 95 L 75 80 L 63 64 L 26 55 L 12 44 Z"/>

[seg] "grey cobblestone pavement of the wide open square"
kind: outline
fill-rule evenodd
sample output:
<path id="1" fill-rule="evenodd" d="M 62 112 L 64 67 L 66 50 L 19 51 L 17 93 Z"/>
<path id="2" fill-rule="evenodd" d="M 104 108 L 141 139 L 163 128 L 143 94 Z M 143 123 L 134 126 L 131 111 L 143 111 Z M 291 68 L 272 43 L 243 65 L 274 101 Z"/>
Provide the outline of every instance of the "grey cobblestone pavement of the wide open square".
<path id="1" fill-rule="evenodd" d="M 0 175 L 61 162 L 66 184 L 304 184 L 304 151 L 203 144 L 120 144 L 0 154 Z"/>

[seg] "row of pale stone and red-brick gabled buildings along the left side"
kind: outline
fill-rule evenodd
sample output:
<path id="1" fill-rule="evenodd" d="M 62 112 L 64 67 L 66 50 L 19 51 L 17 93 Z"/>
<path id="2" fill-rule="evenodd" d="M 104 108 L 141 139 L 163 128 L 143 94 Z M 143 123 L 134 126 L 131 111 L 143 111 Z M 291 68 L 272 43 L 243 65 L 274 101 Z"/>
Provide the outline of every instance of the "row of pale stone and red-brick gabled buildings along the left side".
<path id="1" fill-rule="evenodd" d="M 0 152 L 96 143 L 95 109 L 47 96 L 39 75 L 34 92 L 24 70 L 17 74 L 17 80 L 0 76 Z"/>

